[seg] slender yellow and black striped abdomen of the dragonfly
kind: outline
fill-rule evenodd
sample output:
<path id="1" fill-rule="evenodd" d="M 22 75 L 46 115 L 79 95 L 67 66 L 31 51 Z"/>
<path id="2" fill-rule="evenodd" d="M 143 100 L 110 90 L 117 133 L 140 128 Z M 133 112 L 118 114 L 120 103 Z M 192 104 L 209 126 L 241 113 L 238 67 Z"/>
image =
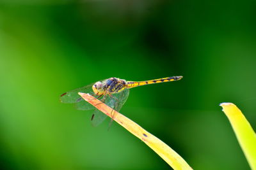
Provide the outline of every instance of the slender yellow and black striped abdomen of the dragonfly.
<path id="1" fill-rule="evenodd" d="M 155 80 L 148 80 L 148 81 L 127 81 L 126 86 L 128 89 L 132 87 L 138 87 L 141 85 L 149 85 L 153 83 L 163 83 L 163 82 L 168 82 L 168 81 L 177 81 L 182 79 L 182 76 L 172 76 L 172 77 L 166 77 L 166 78 L 159 78 Z"/>

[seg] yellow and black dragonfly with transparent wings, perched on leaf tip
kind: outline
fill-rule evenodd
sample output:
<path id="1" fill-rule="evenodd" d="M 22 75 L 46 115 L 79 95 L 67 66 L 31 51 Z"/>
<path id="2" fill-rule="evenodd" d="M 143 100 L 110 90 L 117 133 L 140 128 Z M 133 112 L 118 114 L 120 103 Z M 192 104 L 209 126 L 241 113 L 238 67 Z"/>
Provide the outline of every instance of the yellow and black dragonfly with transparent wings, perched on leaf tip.
<path id="1" fill-rule="evenodd" d="M 177 81 L 182 78 L 182 76 L 171 76 L 147 81 L 126 81 L 124 79 L 111 77 L 106 80 L 86 85 L 85 87 L 65 92 L 64 94 L 61 94 L 60 101 L 61 103 L 74 103 L 77 110 L 95 109 L 92 104 L 84 101 L 83 98 L 79 96 L 78 92 L 83 92 L 97 97 L 97 99 L 100 99 L 102 103 L 107 104 L 109 107 L 113 108 L 113 110 L 120 111 L 129 96 L 129 89 L 153 83 Z M 99 125 L 106 119 L 106 117 L 107 115 L 95 109 L 92 115 L 92 125 Z"/>

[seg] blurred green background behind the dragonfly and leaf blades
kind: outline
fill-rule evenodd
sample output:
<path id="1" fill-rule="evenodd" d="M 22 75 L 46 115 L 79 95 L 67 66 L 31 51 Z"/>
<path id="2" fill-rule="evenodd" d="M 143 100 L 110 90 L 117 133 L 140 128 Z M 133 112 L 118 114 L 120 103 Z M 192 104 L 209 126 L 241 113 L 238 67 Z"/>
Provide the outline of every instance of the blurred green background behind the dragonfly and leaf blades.
<path id="1" fill-rule="evenodd" d="M 170 169 L 63 92 L 115 76 L 181 81 L 132 89 L 121 113 L 194 169 L 250 169 L 218 106 L 256 129 L 255 1 L 1 0 L 1 169 Z"/>

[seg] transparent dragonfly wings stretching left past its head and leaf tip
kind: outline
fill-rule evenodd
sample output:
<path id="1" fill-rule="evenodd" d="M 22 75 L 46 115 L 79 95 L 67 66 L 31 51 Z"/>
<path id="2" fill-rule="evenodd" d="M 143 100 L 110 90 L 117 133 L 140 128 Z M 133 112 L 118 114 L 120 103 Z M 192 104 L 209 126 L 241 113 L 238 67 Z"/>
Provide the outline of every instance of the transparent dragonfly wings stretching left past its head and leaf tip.
<path id="1" fill-rule="evenodd" d="M 76 103 L 75 107 L 77 110 L 92 110 L 94 107 L 88 102 L 84 101 L 78 92 L 94 94 L 92 90 L 93 83 L 86 85 L 84 87 L 71 90 L 70 92 L 65 92 L 60 96 L 60 101 L 62 103 Z"/>

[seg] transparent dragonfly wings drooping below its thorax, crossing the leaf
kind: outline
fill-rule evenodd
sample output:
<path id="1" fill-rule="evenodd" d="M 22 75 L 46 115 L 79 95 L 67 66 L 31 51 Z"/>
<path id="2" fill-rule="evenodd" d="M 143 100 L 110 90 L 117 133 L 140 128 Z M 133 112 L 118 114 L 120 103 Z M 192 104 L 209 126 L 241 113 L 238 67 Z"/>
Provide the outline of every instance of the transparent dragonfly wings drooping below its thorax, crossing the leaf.
<path id="1" fill-rule="evenodd" d="M 118 94 L 113 94 L 113 96 L 114 97 L 107 96 L 104 103 L 107 104 L 109 107 L 113 108 L 114 110 L 120 111 L 129 96 L 129 89 L 125 89 Z M 93 112 L 92 125 L 97 126 L 101 124 L 106 119 L 106 117 L 107 115 L 96 109 Z"/>

